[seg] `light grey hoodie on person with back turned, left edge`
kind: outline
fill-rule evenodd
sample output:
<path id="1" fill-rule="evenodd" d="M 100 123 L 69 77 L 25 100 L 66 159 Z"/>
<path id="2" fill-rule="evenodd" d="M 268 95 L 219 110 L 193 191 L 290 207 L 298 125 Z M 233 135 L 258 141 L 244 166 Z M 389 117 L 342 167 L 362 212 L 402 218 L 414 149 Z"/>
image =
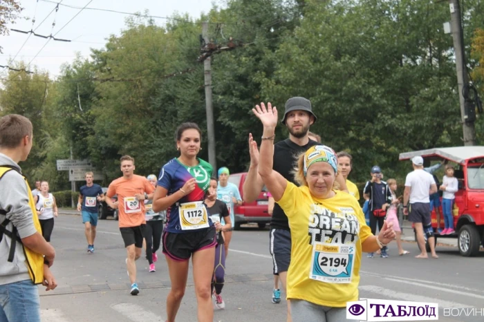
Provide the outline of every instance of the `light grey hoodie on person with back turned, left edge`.
<path id="1" fill-rule="evenodd" d="M 0 165 L 9 165 L 21 171 L 19 164 L 3 153 L 0 153 Z M 27 189 L 30 188 L 27 188 L 26 181 L 17 171 L 8 171 L 0 179 L 0 209 L 8 211 L 7 218 L 10 220 L 7 230 L 12 231 L 12 225 L 15 225 L 20 238 L 32 236 L 37 231 L 32 220 L 32 209 L 28 205 Z M 3 220 L 5 216 L 0 214 L 0 223 Z M 0 242 L 0 285 L 30 279 L 21 243 L 16 245 L 13 262 L 7 261 L 11 241 L 4 234 Z"/>

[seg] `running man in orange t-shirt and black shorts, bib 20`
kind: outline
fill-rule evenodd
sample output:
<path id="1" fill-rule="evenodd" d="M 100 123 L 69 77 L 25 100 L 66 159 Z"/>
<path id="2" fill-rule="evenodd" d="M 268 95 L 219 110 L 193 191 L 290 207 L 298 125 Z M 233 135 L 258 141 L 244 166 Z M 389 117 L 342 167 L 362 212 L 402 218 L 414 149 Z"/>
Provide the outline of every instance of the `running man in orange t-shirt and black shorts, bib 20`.
<path id="1" fill-rule="evenodd" d="M 145 202 L 142 200 L 153 199 L 154 187 L 147 178 L 133 173 L 133 158 L 124 155 L 120 161 L 122 177 L 109 184 L 104 200 L 109 207 L 118 209 L 121 236 L 128 253 L 126 265 L 131 281 L 131 295 L 138 295 L 140 290 L 136 283 L 135 261 L 141 256 L 146 224 Z M 117 202 L 111 201 L 114 195 L 118 195 Z"/>

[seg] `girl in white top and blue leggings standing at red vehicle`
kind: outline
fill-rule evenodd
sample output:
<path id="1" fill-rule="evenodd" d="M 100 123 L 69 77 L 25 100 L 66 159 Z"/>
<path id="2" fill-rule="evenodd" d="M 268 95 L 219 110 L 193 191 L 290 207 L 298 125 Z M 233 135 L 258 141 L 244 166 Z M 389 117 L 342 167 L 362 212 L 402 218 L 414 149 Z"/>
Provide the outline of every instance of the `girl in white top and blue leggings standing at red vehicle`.
<path id="1" fill-rule="evenodd" d="M 454 168 L 447 164 L 445 166 L 445 176 L 442 180 L 440 190 L 443 191 L 442 196 L 442 212 L 444 214 L 445 229 L 440 233 L 441 235 L 454 234 L 454 216 L 452 216 L 452 206 L 454 205 L 455 193 L 458 190 L 458 181 L 454 177 Z"/>

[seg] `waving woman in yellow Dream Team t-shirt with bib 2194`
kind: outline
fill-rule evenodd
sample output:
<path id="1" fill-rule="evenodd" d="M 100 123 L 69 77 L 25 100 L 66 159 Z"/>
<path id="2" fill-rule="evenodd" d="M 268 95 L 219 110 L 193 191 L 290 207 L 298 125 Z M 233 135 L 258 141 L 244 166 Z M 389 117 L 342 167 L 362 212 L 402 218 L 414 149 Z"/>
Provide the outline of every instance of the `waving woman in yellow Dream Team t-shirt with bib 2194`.
<path id="1" fill-rule="evenodd" d="M 300 155 L 295 179 L 301 187 L 273 171 L 277 110 L 256 108 L 252 111 L 263 124 L 259 175 L 288 216 L 291 231 L 287 298 L 292 321 L 346 321 L 346 302 L 358 300 L 362 252 L 390 243 L 395 231 L 385 222 L 373 236 L 356 199 L 335 189 L 337 156 L 328 146 Z M 257 144 L 250 149 L 257 155 Z"/>

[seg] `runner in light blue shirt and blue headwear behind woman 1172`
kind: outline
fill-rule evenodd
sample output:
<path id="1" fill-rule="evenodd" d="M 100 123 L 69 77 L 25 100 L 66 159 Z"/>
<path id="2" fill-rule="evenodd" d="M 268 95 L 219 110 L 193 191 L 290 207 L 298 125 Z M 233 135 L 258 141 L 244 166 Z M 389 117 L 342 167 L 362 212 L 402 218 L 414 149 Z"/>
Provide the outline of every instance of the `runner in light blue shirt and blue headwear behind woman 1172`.
<path id="1" fill-rule="evenodd" d="M 223 234 L 225 245 L 225 256 L 229 253 L 229 244 L 232 239 L 232 229 L 234 229 L 234 206 L 242 205 L 242 197 L 237 187 L 232 182 L 229 182 L 230 171 L 227 167 L 221 167 L 218 169 L 218 187 L 217 187 L 217 199 L 225 202 L 227 209 L 229 210 L 230 220 L 232 221 L 232 228 L 225 230 Z M 225 221 L 222 218 L 222 225 L 225 225 Z"/>

